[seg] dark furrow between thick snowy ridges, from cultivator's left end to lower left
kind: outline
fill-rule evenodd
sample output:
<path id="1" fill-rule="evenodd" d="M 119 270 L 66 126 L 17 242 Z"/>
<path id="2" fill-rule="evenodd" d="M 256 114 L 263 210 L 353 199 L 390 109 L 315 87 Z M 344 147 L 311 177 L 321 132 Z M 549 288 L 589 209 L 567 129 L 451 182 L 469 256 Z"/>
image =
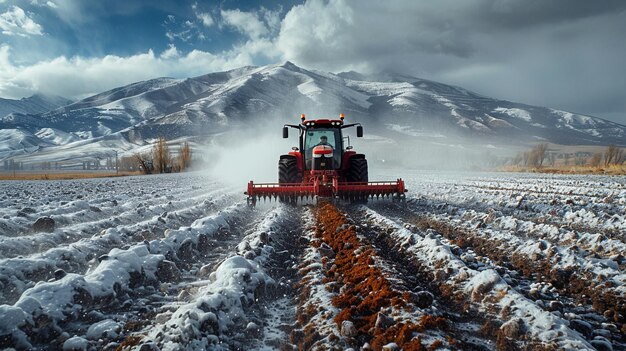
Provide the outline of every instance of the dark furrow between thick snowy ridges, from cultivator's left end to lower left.
<path id="1" fill-rule="evenodd" d="M 157 280 L 149 284 L 136 282 L 135 287 L 120 287 L 118 293 L 107 300 L 91 306 L 75 318 L 69 318 L 57 326 L 72 335 L 85 336 L 90 325 L 114 320 L 119 326 L 116 333 L 98 340 L 96 349 L 116 349 L 136 342 L 135 333 L 149 330 L 152 323 L 163 320 L 177 306 L 193 300 L 198 290 L 210 281 L 210 274 L 227 257 L 237 251 L 246 233 L 254 230 L 260 220 L 268 216 L 265 211 L 252 211 L 226 218 L 205 239 L 183 244 L 176 252 L 165 252 L 166 264 L 162 266 Z M 39 328 L 30 338 L 36 349 L 48 349 L 64 341 L 63 335 Z M 60 346 L 60 345 L 59 345 Z"/>

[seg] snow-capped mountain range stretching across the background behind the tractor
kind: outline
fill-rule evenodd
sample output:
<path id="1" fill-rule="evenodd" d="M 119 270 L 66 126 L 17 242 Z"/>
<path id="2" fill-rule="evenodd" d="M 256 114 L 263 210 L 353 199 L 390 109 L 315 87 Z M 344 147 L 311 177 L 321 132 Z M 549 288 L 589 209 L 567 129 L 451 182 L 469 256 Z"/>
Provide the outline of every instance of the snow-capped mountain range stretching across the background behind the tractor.
<path id="1" fill-rule="evenodd" d="M 626 140 L 626 126 L 601 118 L 488 98 L 410 76 L 332 74 L 286 62 L 188 79 L 158 78 L 53 111 L 1 117 L 0 158 L 67 150 L 73 144 L 132 149 L 157 136 L 211 135 L 255 128 L 251 122 L 260 118 L 296 123 L 300 113 L 318 118 L 340 112 L 363 123 L 374 138 L 395 141 L 479 137 L 494 144 L 622 145 Z"/>

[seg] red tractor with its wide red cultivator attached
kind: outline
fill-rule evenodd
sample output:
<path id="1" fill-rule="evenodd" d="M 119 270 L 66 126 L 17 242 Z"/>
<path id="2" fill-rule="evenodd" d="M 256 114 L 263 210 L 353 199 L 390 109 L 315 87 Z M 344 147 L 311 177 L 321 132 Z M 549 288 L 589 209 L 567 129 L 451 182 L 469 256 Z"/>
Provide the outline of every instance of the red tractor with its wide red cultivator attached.
<path id="1" fill-rule="evenodd" d="M 289 137 L 289 128 L 300 132 L 299 147 L 293 147 L 278 161 L 278 183 L 248 183 L 248 201 L 259 198 L 279 198 L 295 202 L 309 197 L 340 198 L 364 202 L 369 197 L 392 196 L 404 199 L 404 181 L 369 182 L 365 155 L 344 146 L 343 129 L 356 126 L 357 137 L 363 136 L 360 123 L 344 124 L 339 119 L 306 120 L 300 124 L 285 124 L 283 138 Z M 346 139 L 348 139 L 346 137 Z M 349 139 L 348 139 L 349 141 Z M 348 142 L 349 144 L 349 142 Z"/>

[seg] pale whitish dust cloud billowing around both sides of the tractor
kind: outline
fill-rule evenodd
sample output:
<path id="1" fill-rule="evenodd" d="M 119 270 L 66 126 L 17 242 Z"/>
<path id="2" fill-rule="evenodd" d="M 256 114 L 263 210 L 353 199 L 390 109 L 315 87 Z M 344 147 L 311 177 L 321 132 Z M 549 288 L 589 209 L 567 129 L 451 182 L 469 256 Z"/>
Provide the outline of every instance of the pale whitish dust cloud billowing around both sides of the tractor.
<path id="1" fill-rule="evenodd" d="M 306 110 L 305 110 L 306 111 Z M 307 118 L 335 118 L 335 115 L 307 114 Z M 207 140 L 200 152 L 203 171 L 224 184 L 241 187 L 249 181 L 276 183 L 278 160 L 298 146 L 298 130 L 289 128 L 289 138 L 282 138 L 285 123 L 298 124 L 294 113 L 275 113 L 279 117 L 255 117 L 254 125 L 230 128 Z M 293 116 L 285 118 L 284 116 Z M 262 123 L 258 123 L 261 120 Z M 503 143 L 482 138 L 467 138 L 452 131 L 406 134 L 358 116 L 346 116 L 346 123 L 362 123 L 363 138 L 356 137 L 355 128 L 344 129 L 344 146 L 349 144 L 368 159 L 371 180 L 386 170 L 493 170 L 517 152 Z M 401 176 L 400 174 L 398 176 Z"/>

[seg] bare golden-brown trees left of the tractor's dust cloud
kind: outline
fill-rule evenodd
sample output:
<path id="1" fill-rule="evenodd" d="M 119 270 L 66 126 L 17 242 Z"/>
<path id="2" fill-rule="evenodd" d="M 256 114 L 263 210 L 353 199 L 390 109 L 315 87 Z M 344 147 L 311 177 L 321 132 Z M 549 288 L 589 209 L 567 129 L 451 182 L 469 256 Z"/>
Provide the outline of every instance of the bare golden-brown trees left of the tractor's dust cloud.
<path id="1" fill-rule="evenodd" d="M 181 172 L 191 166 L 191 147 L 188 142 L 184 142 L 180 145 L 178 155 L 173 156 L 167 140 L 160 137 L 152 146 L 151 152 L 135 153 L 131 161 L 146 174 Z M 128 162 L 128 160 L 122 158 L 122 162 Z"/>

